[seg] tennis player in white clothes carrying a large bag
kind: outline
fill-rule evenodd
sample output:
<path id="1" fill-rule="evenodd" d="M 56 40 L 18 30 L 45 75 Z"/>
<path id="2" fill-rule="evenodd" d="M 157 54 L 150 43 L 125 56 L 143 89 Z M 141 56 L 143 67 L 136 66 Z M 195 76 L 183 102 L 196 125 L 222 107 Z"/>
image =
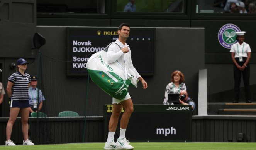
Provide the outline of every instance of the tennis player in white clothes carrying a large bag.
<path id="1" fill-rule="evenodd" d="M 108 63 L 113 63 L 117 61 L 120 65 L 122 65 L 123 68 L 127 68 L 127 70 L 133 70 L 136 73 L 136 78 L 138 78 L 143 88 L 147 88 L 147 82 L 139 75 L 137 70 L 132 65 L 132 58 L 131 58 L 131 50 L 129 48 L 129 45 L 127 45 L 126 40 L 129 37 L 130 33 L 130 26 L 126 23 L 122 23 L 118 29 L 118 40 L 115 41 L 122 49 L 120 50 L 120 47 L 116 44 L 112 44 L 109 46 L 109 49 L 107 51 L 107 61 Z M 125 62 L 124 62 L 125 58 Z M 126 65 L 125 65 L 125 64 Z M 112 109 L 112 115 L 109 120 L 109 133 L 107 142 L 105 143 L 105 150 L 111 150 L 111 149 L 129 149 L 132 150 L 134 147 L 129 144 L 129 141 L 125 137 L 126 128 L 129 122 L 129 118 L 133 112 L 133 103 L 132 99 L 129 95 L 129 92 L 127 93 L 126 97 L 122 100 L 118 100 L 113 98 L 113 109 Z M 117 128 L 119 116 L 121 114 L 121 110 L 124 107 L 124 113 L 121 117 L 120 121 L 120 135 L 117 139 L 117 142 L 114 141 L 114 135 Z"/>

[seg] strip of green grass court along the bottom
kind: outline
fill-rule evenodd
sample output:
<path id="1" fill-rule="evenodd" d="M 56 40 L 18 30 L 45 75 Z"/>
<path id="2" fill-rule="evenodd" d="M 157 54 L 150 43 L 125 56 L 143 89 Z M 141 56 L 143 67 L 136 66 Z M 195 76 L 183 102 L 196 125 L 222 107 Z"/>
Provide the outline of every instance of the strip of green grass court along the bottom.
<path id="1" fill-rule="evenodd" d="M 0 146 L 1 150 L 104 150 L 105 143 Z M 255 150 L 256 143 L 241 142 L 131 142 L 134 150 Z"/>

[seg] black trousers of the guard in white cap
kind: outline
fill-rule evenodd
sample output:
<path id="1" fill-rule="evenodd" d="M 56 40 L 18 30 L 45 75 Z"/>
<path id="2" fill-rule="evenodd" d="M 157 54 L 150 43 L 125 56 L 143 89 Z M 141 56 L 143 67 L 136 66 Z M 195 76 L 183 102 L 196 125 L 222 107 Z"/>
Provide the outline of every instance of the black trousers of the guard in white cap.
<path id="1" fill-rule="evenodd" d="M 244 58 L 244 62 L 246 60 L 246 57 Z M 236 62 L 242 66 L 244 65 L 244 62 L 239 62 L 239 59 L 236 58 Z M 251 100 L 251 93 L 250 93 L 250 64 L 247 64 L 247 67 L 245 67 L 244 71 L 239 70 L 236 65 L 234 64 L 234 79 L 235 79 L 235 97 L 234 100 L 239 100 L 239 94 L 240 94 L 240 82 L 241 82 L 241 76 L 244 80 L 244 93 L 245 93 L 245 100 Z"/>

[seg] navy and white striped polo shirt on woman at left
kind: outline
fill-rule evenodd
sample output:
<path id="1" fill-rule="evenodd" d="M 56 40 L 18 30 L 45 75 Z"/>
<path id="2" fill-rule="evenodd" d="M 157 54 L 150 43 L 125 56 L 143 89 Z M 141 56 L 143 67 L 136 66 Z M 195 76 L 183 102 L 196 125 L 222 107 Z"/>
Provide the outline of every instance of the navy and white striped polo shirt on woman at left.
<path id="1" fill-rule="evenodd" d="M 12 86 L 12 100 L 29 100 L 29 83 L 31 81 L 29 74 L 24 73 L 22 75 L 17 71 L 8 78 L 8 81 L 14 83 Z"/>

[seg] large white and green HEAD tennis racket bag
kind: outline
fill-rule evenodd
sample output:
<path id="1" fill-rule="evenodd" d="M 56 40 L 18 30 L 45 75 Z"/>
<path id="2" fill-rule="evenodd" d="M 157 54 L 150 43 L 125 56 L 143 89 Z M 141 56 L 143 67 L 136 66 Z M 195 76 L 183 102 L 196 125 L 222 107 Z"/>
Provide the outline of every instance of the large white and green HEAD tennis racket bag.
<path id="1" fill-rule="evenodd" d="M 110 44 L 117 43 L 112 42 Z M 107 63 L 107 49 L 109 45 L 104 50 L 93 54 L 88 59 L 86 68 L 92 81 L 98 87 L 110 96 L 120 100 L 127 95 L 130 83 L 137 87 L 138 80 L 132 70 L 127 72 L 126 67 L 123 68 L 119 62 Z"/>

